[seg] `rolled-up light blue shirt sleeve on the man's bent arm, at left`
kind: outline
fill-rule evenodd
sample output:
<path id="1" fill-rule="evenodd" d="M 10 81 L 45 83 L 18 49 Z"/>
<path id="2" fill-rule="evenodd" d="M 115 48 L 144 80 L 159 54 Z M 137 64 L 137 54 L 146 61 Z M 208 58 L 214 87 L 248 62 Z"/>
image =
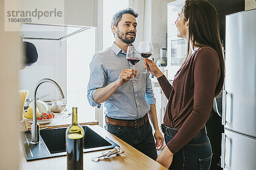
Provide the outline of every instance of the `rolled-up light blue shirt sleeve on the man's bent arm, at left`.
<path id="1" fill-rule="evenodd" d="M 101 104 L 94 101 L 94 94 L 98 88 L 106 86 L 107 72 L 102 55 L 96 53 L 90 63 L 90 79 L 87 86 L 87 99 L 91 106 L 100 108 Z"/>

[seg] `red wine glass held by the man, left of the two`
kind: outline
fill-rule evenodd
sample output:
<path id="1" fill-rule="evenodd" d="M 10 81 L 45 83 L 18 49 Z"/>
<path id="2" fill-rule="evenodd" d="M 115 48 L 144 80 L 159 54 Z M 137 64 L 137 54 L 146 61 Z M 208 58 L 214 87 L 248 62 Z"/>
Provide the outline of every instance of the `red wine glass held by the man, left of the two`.
<path id="1" fill-rule="evenodd" d="M 140 61 L 140 54 L 137 52 L 134 46 L 128 46 L 126 52 L 126 59 L 132 64 L 133 69 L 135 70 L 135 64 Z M 134 75 L 132 75 L 132 79 L 129 80 L 138 80 L 134 79 Z"/>

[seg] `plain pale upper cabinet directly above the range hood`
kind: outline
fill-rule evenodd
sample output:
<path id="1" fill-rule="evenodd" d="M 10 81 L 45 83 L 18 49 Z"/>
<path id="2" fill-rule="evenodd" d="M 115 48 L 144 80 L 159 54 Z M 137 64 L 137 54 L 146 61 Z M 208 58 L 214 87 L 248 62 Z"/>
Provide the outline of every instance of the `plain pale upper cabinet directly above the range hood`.
<path id="1" fill-rule="evenodd" d="M 32 24 L 97 26 L 98 0 L 46 0 L 44 4 L 41 1 L 24 0 L 21 10 L 32 13 Z"/>

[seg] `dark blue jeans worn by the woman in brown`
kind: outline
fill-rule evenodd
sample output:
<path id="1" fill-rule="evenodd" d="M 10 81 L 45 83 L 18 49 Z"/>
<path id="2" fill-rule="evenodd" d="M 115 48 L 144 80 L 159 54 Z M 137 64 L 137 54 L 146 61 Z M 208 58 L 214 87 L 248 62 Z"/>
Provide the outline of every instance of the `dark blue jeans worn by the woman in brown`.
<path id="1" fill-rule="evenodd" d="M 172 136 L 164 135 L 166 144 Z M 170 170 L 209 170 L 212 161 L 212 147 L 207 135 L 192 139 L 174 154 Z"/>

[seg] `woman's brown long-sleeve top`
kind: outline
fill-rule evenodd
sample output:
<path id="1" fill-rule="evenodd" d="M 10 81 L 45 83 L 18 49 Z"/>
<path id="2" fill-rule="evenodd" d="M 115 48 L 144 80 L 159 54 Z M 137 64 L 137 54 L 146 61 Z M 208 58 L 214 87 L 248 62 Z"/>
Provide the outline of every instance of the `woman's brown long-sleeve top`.
<path id="1" fill-rule="evenodd" d="M 177 153 L 189 143 L 209 119 L 215 88 L 220 78 L 220 60 L 211 47 L 198 48 L 177 71 L 173 86 L 163 75 L 158 82 L 169 102 L 164 116 L 166 126 L 179 129 L 167 143 Z"/>

